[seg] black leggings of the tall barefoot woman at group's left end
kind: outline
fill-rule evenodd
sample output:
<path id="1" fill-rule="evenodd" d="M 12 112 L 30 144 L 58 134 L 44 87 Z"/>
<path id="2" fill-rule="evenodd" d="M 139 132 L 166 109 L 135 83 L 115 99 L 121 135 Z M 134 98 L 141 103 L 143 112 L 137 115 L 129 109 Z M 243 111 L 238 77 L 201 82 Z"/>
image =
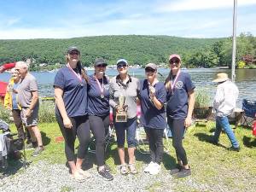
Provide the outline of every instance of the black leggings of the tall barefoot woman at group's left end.
<path id="1" fill-rule="evenodd" d="M 65 139 L 65 154 L 68 161 L 75 160 L 74 143 L 76 137 L 79 137 L 79 149 L 77 158 L 84 159 L 88 144 L 90 142 L 90 125 L 88 116 L 79 116 L 69 118 L 73 127 L 68 129 L 63 125 L 63 119 L 56 115 L 57 122 L 61 128 L 61 133 Z"/>

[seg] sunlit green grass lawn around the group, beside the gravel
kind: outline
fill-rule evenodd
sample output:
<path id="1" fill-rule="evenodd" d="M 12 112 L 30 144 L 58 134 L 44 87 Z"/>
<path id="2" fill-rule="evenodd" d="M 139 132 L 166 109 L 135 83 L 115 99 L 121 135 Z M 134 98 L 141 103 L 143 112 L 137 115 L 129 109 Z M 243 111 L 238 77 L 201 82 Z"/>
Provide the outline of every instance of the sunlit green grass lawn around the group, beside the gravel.
<path id="1" fill-rule="evenodd" d="M 11 125 L 11 129 L 15 131 L 15 126 Z M 39 124 L 39 129 L 42 132 L 46 149 L 42 155 L 33 159 L 30 157 L 32 151 L 28 151 L 28 159 L 32 159 L 33 163 L 44 159 L 50 163 L 65 164 L 64 143 L 55 141 L 56 137 L 61 136 L 58 125 L 56 123 L 42 123 Z M 230 141 L 226 134 L 221 134 L 220 146 L 209 143 L 212 131 L 214 131 L 213 122 L 196 125 L 187 131 L 183 145 L 186 148 L 189 165 L 192 168 L 192 176 L 173 179 L 173 190 L 256 191 L 256 138 L 253 137 L 252 131 L 240 126 L 236 128 L 236 137 L 241 145 L 241 152 L 227 150 L 230 147 Z M 169 139 L 168 142 L 170 152 L 164 154 L 162 166 L 166 170 L 172 169 L 176 164 L 176 154 L 174 148 L 172 148 L 172 140 Z M 167 141 L 165 143 L 168 146 Z M 89 156 L 90 160 L 95 162 L 95 155 L 90 154 Z M 136 156 L 137 168 L 144 166 L 149 161 L 148 154 L 137 152 Z M 106 162 L 112 167 L 113 173 L 116 172 L 116 166 L 119 165 L 116 144 L 110 146 Z M 161 185 L 164 184 L 168 183 L 152 183 L 152 186 L 149 187 L 151 191 L 159 191 Z M 68 190 L 62 189 L 62 191 Z"/>

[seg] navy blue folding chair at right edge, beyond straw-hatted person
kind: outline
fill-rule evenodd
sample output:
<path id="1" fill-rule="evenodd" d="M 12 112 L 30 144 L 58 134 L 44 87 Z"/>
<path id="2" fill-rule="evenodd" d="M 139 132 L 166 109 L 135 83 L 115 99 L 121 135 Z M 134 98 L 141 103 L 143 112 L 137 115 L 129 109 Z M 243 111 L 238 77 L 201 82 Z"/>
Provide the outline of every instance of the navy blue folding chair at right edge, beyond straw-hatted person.
<path id="1" fill-rule="evenodd" d="M 243 99 L 242 110 L 244 111 L 244 113 L 242 115 L 241 122 L 243 123 L 243 125 L 252 126 L 253 121 L 256 119 L 256 101 Z"/>

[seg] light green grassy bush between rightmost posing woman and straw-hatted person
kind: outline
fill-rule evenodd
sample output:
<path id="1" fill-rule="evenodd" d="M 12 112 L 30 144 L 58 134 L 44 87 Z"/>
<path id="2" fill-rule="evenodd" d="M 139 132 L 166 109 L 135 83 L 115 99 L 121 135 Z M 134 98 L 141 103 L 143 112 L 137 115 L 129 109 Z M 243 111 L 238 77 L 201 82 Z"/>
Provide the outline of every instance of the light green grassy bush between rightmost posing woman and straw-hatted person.
<path id="1" fill-rule="evenodd" d="M 195 91 L 195 107 L 203 108 L 211 106 L 211 96 L 207 90 L 196 90 Z"/>

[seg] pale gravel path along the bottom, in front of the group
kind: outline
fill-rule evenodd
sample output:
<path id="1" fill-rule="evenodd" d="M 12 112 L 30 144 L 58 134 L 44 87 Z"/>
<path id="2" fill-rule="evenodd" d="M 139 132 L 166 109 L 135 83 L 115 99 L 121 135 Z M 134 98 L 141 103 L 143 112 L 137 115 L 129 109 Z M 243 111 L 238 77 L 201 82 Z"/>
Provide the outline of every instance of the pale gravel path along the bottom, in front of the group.
<path id="1" fill-rule="evenodd" d="M 88 192 L 172 192 L 172 191 L 241 191 L 236 189 L 237 183 L 230 183 L 230 186 L 223 182 L 221 176 L 214 180 L 218 183 L 198 182 L 193 177 L 176 179 L 169 174 L 169 171 L 162 166 L 162 171 L 157 176 L 151 176 L 143 172 L 142 167 L 137 175 L 122 176 L 117 172 L 113 175 L 113 181 L 105 181 L 96 172 L 96 166 L 89 169 L 92 177 L 84 183 L 73 180 L 65 165 L 49 164 L 47 161 L 33 163 L 26 169 L 20 167 L 18 172 L 9 175 L 0 173 L 1 192 L 65 192 L 65 191 L 88 191 Z M 192 170 L 193 171 L 193 170 Z M 235 175 L 240 172 L 233 172 Z M 193 174 L 193 172 L 192 172 Z M 235 177 L 230 175 L 230 177 Z M 243 177 L 244 176 L 244 177 Z M 249 175 L 248 175 L 249 176 Z M 254 176 L 239 174 L 240 184 L 244 184 L 242 191 L 255 191 Z M 234 186 L 235 184 L 235 186 Z"/>

